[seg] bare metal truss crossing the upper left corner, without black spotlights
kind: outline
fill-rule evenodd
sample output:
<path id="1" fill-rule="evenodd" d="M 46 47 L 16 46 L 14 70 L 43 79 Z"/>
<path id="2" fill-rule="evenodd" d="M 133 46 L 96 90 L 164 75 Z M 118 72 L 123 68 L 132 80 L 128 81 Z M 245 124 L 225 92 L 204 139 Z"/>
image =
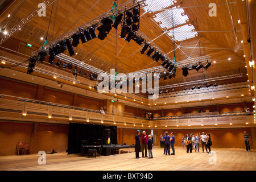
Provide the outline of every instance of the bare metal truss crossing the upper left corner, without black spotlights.
<path id="1" fill-rule="evenodd" d="M 55 2 L 56 0 L 46 0 L 44 1 L 44 5 L 46 5 L 45 8 L 47 8 L 49 5 L 51 5 L 53 2 Z M 38 15 L 39 11 L 42 10 L 42 7 L 38 7 L 36 8 L 34 11 L 32 11 L 31 14 L 27 15 L 26 18 L 20 20 L 20 22 L 18 24 L 16 24 L 13 28 L 11 28 L 11 30 L 1 38 L 1 42 L 0 45 L 5 42 L 7 39 L 9 39 L 12 35 L 15 34 L 16 31 L 20 30 L 20 28 L 22 28 L 26 23 L 30 22 L 31 19 L 35 18 L 35 16 Z"/>

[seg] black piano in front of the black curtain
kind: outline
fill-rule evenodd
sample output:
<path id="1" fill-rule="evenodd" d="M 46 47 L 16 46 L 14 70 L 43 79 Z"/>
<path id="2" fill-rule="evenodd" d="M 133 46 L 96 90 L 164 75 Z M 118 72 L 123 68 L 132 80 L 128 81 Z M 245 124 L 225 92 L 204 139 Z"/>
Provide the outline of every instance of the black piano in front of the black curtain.
<path id="1" fill-rule="evenodd" d="M 102 139 L 82 140 L 82 156 L 101 156 Z"/>

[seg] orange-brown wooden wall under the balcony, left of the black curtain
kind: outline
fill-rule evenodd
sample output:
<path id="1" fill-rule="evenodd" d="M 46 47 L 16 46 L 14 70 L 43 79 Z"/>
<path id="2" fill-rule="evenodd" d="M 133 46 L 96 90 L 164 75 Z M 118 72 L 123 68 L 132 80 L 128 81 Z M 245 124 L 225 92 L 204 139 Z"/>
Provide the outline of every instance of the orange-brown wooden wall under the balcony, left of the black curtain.
<path id="1" fill-rule="evenodd" d="M 34 133 L 33 123 L 0 122 L 0 156 L 15 155 L 18 141 L 30 143 L 32 154 L 67 150 L 68 125 L 36 124 Z"/>

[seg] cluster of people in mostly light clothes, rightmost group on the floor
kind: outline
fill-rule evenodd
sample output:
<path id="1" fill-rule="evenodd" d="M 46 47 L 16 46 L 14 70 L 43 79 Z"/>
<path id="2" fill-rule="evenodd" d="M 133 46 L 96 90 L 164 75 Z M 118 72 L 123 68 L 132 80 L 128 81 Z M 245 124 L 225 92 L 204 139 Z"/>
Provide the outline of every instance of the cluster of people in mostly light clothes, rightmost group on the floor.
<path id="1" fill-rule="evenodd" d="M 200 144 L 202 144 L 202 149 L 204 152 L 204 147 L 207 153 L 210 153 L 210 146 L 212 146 L 212 139 L 210 138 L 210 134 L 206 134 L 203 132 L 197 133 L 196 136 L 191 134 L 186 134 L 185 137 L 183 136 L 181 139 L 181 144 L 183 145 L 183 149 L 185 150 L 187 147 L 187 153 L 192 153 L 193 150 L 195 152 L 199 152 Z"/>

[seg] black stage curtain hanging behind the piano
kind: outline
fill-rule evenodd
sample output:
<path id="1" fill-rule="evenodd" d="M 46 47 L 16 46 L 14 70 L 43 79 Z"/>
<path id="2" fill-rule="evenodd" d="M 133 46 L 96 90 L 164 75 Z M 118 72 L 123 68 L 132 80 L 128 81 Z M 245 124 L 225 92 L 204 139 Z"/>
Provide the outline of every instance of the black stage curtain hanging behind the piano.
<path id="1" fill-rule="evenodd" d="M 117 144 L 117 127 L 106 125 L 89 125 L 80 123 L 69 123 L 68 131 L 68 154 L 79 154 L 82 152 L 82 140 L 102 139 L 104 130 L 110 129 L 111 144 Z"/>

